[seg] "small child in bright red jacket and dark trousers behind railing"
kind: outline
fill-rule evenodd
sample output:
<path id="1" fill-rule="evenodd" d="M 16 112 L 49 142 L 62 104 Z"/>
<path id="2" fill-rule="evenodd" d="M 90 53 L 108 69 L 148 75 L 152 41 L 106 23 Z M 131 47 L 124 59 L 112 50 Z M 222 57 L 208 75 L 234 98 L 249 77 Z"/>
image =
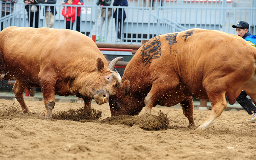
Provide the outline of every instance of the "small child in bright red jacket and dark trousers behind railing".
<path id="1" fill-rule="evenodd" d="M 68 5 L 73 4 L 73 0 L 68 0 L 67 3 Z M 76 7 L 67 7 L 67 12 L 65 12 L 65 7 L 62 9 L 62 15 L 66 17 L 66 29 L 70 29 L 70 21 L 72 21 L 72 27 L 71 30 L 73 29 L 73 24 L 76 20 Z"/>

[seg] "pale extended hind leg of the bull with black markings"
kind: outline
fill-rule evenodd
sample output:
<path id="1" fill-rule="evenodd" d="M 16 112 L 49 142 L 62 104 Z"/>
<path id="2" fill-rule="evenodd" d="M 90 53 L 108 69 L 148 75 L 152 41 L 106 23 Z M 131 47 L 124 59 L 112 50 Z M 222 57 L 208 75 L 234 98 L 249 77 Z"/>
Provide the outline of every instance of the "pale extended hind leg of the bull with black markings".
<path id="1" fill-rule="evenodd" d="M 222 111 L 227 108 L 225 93 L 219 95 L 219 97 L 209 97 L 209 100 L 212 103 L 212 111 L 209 117 L 198 127 L 198 129 L 207 129 L 209 125 L 221 115 Z"/>

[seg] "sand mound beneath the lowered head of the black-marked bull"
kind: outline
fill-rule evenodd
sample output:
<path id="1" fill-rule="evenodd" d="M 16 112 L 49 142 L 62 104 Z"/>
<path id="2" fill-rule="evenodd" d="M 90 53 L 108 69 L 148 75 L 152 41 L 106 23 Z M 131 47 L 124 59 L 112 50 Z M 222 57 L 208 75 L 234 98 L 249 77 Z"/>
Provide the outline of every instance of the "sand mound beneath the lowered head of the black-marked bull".
<path id="1" fill-rule="evenodd" d="M 147 114 L 147 115 L 136 115 L 136 116 L 113 116 L 107 117 L 102 120 L 103 123 L 109 124 L 125 124 L 128 126 L 139 126 L 145 130 L 160 130 L 169 128 L 169 119 L 166 114 L 159 112 L 158 116 Z"/>

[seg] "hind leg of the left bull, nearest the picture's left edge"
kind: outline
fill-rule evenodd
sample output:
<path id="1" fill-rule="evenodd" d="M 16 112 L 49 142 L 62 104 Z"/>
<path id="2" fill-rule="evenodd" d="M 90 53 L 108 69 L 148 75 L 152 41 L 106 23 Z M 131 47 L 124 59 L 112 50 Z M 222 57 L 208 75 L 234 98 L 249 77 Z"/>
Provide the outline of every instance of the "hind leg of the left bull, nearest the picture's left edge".
<path id="1" fill-rule="evenodd" d="M 31 111 L 30 111 L 29 107 L 26 105 L 25 100 L 24 100 L 25 89 L 26 89 L 26 85 L 18 80 L 15 81 L 14 86 L 12 88 L 17 101 L 20 103 L 23 113 L 29 113 Z"/>

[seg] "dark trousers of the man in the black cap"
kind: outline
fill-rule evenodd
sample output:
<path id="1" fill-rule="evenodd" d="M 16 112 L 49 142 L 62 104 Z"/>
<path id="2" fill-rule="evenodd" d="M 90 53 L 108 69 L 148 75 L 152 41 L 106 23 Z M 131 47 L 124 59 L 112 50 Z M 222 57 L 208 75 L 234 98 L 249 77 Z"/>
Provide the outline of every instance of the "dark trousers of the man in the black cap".
<path id="1" fill-rule="evenodd" d="M 240 95 L 236 98 L 236 101 L 243 107 L 248 114 L 253 114 L 256 111 L 256 107 L 251 103 L 250 100 L 246 97 L 247 94 L 245 91 L 241 91 Z"/>

